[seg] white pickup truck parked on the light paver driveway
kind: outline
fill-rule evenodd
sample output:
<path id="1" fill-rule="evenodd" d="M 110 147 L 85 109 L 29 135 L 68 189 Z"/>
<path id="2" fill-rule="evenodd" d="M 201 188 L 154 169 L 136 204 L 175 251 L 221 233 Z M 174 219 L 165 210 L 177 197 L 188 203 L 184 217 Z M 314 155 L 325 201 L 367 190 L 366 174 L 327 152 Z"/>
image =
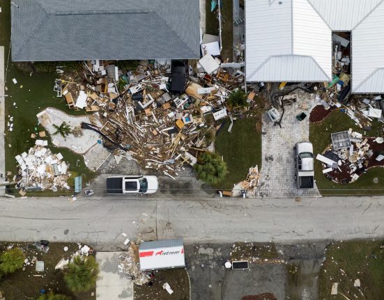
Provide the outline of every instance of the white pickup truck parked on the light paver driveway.
<path id="1" fill-rule="evenodd" d="M 295 145 L 295 180 L 298 189 L 314 188 L 314 147 L 312 143 L 300 142 Z"/>

